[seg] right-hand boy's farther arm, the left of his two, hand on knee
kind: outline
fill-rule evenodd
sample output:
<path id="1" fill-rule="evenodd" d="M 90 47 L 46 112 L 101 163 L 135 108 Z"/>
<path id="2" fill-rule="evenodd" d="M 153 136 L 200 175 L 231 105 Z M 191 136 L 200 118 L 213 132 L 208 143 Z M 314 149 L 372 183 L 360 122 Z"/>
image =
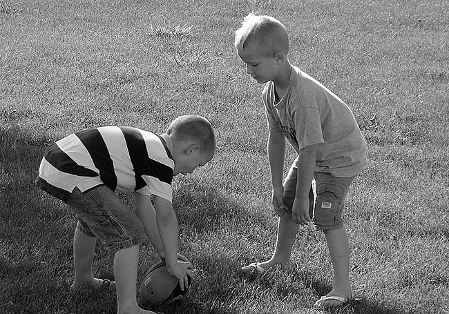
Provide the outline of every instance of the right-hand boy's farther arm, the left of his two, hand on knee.
<path id="1" fill-rule="evenodd" d="M 287 206 L 283 202 L 283 173 L 285 161 L 285 137 L 280 132 L 270 132 L 268 136 L 268 159 L 271 169 L 271 184 L 273 185 L 274 211 L 280 217 L 286 217 Z"/>

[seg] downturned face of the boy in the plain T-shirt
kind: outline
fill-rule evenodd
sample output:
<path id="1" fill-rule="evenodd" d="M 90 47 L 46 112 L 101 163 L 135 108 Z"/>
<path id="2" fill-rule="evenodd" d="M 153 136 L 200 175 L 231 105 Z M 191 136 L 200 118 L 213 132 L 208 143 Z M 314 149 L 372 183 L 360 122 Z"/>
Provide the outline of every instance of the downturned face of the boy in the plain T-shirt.
<path id="1" fill-rule="evenodd" d="M 274 81 L 278 72 L 276 57 L 267 57 L 260 53 L 257 45 L 249 45 L 238 50 L 238 56 L 245 62 L 247 73 L 259 84 Z"/>

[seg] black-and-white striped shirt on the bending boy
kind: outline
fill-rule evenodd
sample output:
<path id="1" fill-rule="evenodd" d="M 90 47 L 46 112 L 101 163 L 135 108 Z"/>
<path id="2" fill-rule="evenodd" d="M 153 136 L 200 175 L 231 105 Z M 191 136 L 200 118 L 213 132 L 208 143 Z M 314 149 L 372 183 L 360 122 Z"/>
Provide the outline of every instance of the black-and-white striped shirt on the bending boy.
<path id="1" fill-rule="evenodd" d="M 67 201 L 104 184 L 116 193 L 138 192 L 172 200 L 175 162 L 162 137 L 128 126 L 82 130 L 51 144 L 41 161 L 36 184 Z"/>

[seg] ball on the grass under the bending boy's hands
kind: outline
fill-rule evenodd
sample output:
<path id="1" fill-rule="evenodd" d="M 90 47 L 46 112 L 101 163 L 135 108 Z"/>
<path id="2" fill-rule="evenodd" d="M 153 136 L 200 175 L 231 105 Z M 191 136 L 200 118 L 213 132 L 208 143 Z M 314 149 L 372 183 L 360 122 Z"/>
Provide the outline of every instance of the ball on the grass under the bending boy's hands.
<path id="1" fill-rule="evenodd" d="M 189 277 L 189 287 L 191 279 Z M 165 263 L 160 262 L 151 267 L 140 284 L 140 298 L 146 303 L 171 304 L 182 300 L 189 289 L 181 290 L 178 279 L 171 276 Z"/>

